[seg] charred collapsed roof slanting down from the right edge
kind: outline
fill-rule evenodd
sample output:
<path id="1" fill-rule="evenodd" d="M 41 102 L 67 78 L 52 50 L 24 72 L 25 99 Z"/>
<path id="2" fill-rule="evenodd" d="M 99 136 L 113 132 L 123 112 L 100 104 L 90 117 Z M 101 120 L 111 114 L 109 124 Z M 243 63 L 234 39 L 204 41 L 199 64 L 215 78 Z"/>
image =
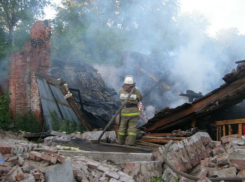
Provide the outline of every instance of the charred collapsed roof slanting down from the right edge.
<path id="1" fill-rule="evenodd" d="M 245 64 L 226 74 L 219 88 L 193 102 L 176 108 L 163 108 L 142 128 L 147 132 L 164 131 L 181 123 L 191 123 L 210 115 L 214 111 L 236 105 L 245 99 Z"/>

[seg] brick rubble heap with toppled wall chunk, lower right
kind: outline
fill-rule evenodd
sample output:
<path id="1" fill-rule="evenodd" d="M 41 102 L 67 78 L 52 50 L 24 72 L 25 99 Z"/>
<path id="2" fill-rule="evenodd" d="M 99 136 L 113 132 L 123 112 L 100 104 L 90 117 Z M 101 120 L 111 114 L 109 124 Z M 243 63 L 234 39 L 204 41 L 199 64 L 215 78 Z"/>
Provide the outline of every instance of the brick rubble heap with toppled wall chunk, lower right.
<path id="1" fill-rule="evenodd" d="M 163 179 L 175 181 L 178 177 L 165 163 L 166 146 L 153 152 L 154 159 L 163 165 Z M 200 178 L 245 177 L 245 139 L 241 136 L 229 135 L 221 141 L 213 141 L 205 132 L 198 132 L 170 146 L 167 160 L 178 170 Z M 187 180 L 188 181 L 188 180 Z"/>

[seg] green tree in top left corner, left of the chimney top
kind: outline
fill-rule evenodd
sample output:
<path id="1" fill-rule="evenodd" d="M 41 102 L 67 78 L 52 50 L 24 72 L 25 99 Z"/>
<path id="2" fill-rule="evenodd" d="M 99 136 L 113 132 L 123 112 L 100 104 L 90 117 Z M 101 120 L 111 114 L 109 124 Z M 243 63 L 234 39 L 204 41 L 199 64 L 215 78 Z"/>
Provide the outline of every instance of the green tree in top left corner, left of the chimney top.
<path id="1" fill-rule="evenodd" d="M 1 0 L 0 26 L 8 32 L 8 43 L 14 41 L 14 30 L 22 21 L 33 22 L 34 18 L 44 14 L 49 0 Z"/>

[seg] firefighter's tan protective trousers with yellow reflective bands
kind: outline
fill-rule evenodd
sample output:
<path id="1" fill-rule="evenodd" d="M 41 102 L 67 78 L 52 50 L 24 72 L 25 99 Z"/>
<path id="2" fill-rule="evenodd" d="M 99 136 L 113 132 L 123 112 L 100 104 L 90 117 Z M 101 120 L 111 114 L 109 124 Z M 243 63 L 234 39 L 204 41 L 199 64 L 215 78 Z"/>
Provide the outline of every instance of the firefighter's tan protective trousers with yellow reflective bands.
<path id="1" fill-rule="evenodd" d="M 128 145 L 135 145 L 138 116 L 122 116 L 118 132 L 118 143 L 125 144 L 128 135 Z"/>

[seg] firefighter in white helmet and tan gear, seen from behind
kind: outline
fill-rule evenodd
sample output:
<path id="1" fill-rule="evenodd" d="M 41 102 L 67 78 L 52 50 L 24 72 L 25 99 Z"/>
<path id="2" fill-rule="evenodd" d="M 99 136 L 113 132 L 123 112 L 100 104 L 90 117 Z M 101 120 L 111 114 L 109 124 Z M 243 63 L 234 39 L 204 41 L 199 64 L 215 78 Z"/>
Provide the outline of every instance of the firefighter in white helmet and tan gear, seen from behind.
<path id="1" fill-rule="evenodd" d="M 130 91 L 135 87 L 133 76 L 127 75 L 124 79 L 124 85 L 119 91 L 121 103 L 123 103 Z M 118 132 L 118 143 L 125 144 L 126 137 L 128 136 L 128 145 L 135 145 L 136 131 L 137 131 L 137 119 L 140 115 L 138 109 L 138 103 L 142 100 L 142 95 L 138 89 L 135 89 L 131 94 L 129 100 L 125 104 L 125 107 L 121 111 L 121 124 Z"/>

